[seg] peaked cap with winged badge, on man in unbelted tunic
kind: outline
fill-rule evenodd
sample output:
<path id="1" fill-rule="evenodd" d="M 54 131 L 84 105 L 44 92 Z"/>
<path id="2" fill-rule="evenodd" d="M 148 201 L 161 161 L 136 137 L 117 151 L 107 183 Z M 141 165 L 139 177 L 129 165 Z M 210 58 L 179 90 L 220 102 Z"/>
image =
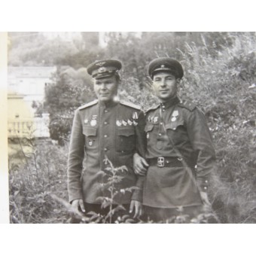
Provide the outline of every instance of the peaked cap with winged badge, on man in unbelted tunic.
<path id="1" fill-rule="evenodd" d="M 87 73 L 93 78 L 108 78 L 122 68 L 122 63 L 116 59 L 96 60 L 87 66 Z"/>

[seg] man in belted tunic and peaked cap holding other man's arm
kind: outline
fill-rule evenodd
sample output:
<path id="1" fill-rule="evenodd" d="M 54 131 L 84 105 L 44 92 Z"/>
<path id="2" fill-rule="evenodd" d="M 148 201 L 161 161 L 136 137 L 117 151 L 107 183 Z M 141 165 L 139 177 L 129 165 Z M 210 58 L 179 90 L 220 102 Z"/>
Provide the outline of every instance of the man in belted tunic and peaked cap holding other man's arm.
<path id="1" fill-rule="evenodd" d="M 203 205 L 209 206 L 207 190 L 215 166 L 215 150 L 202 111 L 193 103 L 178 99 L 183 74 L 175 59 L 158 58 L 148 65 L 148 75 L 160 101 L 145 114 L 149 168 L 143 205 L 154 221 L 172 218 L 181 209 L 193 218 L 202 212 Z M 135 170 L 144 174 L 136 162 Z"/>

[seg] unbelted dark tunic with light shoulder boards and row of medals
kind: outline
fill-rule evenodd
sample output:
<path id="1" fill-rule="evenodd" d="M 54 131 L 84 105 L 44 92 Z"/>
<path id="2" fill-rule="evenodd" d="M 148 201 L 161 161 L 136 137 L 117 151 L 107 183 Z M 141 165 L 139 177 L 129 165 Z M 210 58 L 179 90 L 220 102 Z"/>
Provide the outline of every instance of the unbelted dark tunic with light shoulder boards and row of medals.
<path id="1" fill-rule="evenodd" d="M 133 154 L 144 154 L 145 119 L 138 106 L 127 102 L 88 103 L 75 111 L 69 148 L 68 190 L 69 200 L 83 198 L 86 203 L 100 203 L 98 197 L 110 197 L 103 189 L 107 182 L 102 171 L 109 167 L 105 157 L 114 167 L 126 166 L 128 172 L 120 172 L 123 179 L 117 190 L 136 186 L 133 172 Z M 85 157 L 84 170 L 83 160 Z M 138 183 L 139 184 L 139 183 Z M 117 203 L 142 200 L 142 191 L 119 193 Z"/>

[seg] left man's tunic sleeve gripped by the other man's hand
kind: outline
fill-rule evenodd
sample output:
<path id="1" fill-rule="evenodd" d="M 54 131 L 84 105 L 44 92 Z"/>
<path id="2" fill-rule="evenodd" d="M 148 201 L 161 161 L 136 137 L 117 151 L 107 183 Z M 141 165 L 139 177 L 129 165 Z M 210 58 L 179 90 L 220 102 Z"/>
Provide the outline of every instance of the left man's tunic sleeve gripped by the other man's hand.
<path id="1" fill-rule="evenodd" d="M 145 115 L 142 111 L 139 113 L 138 125 L 136 126 L 136 152 L 145 158 L 146 151 L 146 134 L 145 134 Z M 137 176 L 136 187 L 133 191 L 132 200 L 142 202 L 142 191 L 145 176 Z"/>

